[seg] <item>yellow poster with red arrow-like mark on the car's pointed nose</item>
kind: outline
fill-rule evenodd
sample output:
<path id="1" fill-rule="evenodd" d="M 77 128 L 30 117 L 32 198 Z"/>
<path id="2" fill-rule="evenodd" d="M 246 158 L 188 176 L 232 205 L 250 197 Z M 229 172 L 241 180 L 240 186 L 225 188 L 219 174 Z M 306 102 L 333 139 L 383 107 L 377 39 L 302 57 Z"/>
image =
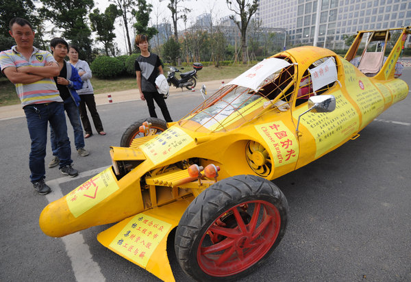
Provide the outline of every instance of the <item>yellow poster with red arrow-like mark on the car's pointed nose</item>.
<path id="1" fill-rule="evenodd" d="M 71 214 L 77 218 L 117 190 L 119 185 L 110 167 L 67 194 L 66 202 Z"/>

